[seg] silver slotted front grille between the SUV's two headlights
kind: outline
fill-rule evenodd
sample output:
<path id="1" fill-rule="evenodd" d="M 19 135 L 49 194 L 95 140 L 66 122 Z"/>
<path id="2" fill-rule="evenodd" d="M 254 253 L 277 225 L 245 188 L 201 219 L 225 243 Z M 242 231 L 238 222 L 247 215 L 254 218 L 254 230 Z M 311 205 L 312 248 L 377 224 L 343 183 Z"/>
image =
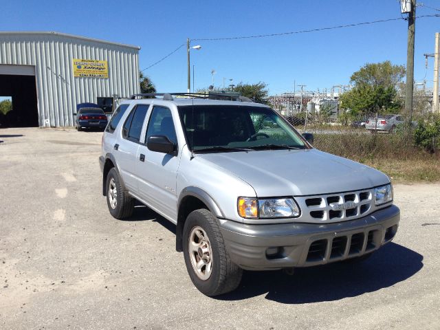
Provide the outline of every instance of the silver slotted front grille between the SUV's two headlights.
<path id="1" fill-rule="evenodd" d="M 337 222 L 364 217 L 374 208 L 374 189 L 336 194 L 295 197 L 302 217 L 311 222 Z"/>

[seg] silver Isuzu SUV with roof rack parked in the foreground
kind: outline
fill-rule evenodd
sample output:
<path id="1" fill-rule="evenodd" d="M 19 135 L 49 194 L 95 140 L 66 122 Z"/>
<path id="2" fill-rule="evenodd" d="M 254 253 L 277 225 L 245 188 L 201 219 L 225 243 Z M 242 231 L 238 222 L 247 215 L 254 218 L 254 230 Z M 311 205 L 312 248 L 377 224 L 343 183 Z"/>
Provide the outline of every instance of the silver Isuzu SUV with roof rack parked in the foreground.
<path id="1" fill-rule="evenodd" d="M 203 294 L 236 289 L 243 270 L 363 260 L 395 236 L 399 208 L 380 171 L 316 150 L 266 105 L 157 95 L 111 118 L 102 194 L 116 219 L 137 199 L 175 223 Z"/>

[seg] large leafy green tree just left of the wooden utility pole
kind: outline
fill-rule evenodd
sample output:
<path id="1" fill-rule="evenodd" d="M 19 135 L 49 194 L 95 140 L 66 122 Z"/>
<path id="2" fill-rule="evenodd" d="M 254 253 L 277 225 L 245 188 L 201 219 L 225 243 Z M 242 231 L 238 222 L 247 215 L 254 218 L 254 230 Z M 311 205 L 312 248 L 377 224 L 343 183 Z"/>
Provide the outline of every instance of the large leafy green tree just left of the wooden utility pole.
<path id="1" fill-rule="evenodd" d="M 353 89 L 340 96 L 341 108 L 351 115 L 401 109 L 397 87 L 405 76 L 403 65 L 390 61 L 367 63 L 351 75 Z"/>

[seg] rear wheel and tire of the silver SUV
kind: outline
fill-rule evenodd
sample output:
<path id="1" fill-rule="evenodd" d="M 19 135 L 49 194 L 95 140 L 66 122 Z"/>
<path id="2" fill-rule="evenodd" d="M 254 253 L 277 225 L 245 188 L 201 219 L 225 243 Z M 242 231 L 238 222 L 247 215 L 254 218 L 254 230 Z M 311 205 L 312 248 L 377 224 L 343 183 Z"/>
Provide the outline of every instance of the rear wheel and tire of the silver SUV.
<path id="1" fill-rule="evenodd" d="M 107 187 L 107 206 L 109 207 L 110 214 L 119 220 L 131 217 L 135 201 L 122 188 L 118 172 L 116 172 L 115 168 L 109 170 L 105 186 Z"/>

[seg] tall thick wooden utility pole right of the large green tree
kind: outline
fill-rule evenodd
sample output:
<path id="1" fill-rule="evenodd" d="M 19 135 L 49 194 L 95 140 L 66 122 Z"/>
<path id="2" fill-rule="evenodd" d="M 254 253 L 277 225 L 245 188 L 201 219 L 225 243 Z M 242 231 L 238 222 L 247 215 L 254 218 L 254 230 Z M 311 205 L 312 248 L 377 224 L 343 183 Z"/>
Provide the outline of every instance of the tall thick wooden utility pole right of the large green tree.
<path id="1" fill-rule="evenodd" d="M 412 120 L 412 93 L 414 91 L 414 39 L 415 39 L 415 6 L 417 0 L 411 0 L 411 11 L 408 14 L 408 50 L 406 54 L 406 92 L 405 111 Z"/>

